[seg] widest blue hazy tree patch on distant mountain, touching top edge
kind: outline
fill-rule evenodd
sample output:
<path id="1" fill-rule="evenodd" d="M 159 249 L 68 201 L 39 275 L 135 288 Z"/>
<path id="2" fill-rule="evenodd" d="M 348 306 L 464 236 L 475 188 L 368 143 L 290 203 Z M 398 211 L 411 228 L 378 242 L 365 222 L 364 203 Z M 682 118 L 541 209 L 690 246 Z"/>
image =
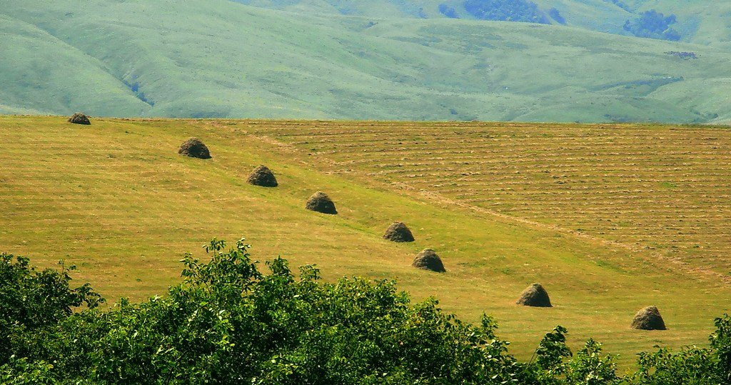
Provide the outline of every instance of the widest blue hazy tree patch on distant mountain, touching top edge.
<path id="1" fill-rule="evenodd" d="M 550 23 L 538 6 L 529 0 L 466 0 L 464 9 L 480 20 Z"/>

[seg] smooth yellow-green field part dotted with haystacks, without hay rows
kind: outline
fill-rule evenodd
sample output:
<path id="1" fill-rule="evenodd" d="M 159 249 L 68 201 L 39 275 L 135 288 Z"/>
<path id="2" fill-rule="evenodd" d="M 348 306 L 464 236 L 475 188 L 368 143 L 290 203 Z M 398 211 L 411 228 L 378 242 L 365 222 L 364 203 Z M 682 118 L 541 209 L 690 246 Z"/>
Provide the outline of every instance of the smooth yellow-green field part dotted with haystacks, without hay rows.
<path id="1" fill-rule="evenodd" d="M 344 163 L 328 154 L 349 145 L 338 135 L 376 143 L 390 138 L 384 127 L 426 145 L 445 138 L 429 135 L 428 124 L 94 119 L 85 127 L 61 117 L 0 117 L 0 244 L 42 266 L 59 259 L 75 263 L 78 280 L 115 300 L 162 294 L 179 279 L 182 253 L 204 258 L 200 246 L 211 237 L 246 236 L 260 261 L 282 255 L 293 266 L 317 263 L 327 280 L 397 277 L 416 299 L 437 296 L 445 310 L 468 321 L 483 312 L 494 315 L 521 359 L 561 324 L 571 331 L 573 347 L 596 337 L 621 354 L 626 367 L 635 353 L 655 344 L 705 343 L 713 317 L 730 310 L 727 285 L 715 276 L 414 187 L 431 178 L 419 175 L 428 171 L 385 180 L 368 171 L 387 163 L 378 154 Z M 485 127 L 496 138 L 515 134 L 501 124 Z M 469 129 L 452 128 L 460 130 Z M 586 128 L 553 132 L 564 130 Z M 291 141 L 286 132 L 313 139 Z M 176 154 L 191 135 L 208 144 L 212 160 Z M 313 153 L 312 146 L 327 150 Z M 448 154 L 424 156 L 450 161 Z M 280 187 L 244 182 L 262 163 L 277 174 Z M 317 190 L 335 200 L 340 214 L 303 209 Z M 417 242 L 382 239 L 394 220 L 406 222 Z M 442 256 L 446 274 L 409 266 L 425 247 Z M 556 307 L 515 306 L 520 291 L 535 281 L 546 286 Z M 648 304 L 660 308 L 667 332 L 629 329 L 635 311 Z"/>

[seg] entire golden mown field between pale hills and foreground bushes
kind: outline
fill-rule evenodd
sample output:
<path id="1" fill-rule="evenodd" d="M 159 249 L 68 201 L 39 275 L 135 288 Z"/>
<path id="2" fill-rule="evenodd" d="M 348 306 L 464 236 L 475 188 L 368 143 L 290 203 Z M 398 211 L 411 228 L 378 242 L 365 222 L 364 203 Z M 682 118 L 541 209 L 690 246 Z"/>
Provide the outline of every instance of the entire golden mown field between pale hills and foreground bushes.
<path id="1" fill-rule="evenodd" d="M 192 135 L 213 159 L 176 153 Z M 0 116 L 0 250 L 75 263 L 113 302 L 162 294 L 213 236 L 246 236 L 261 261 L 396 277 L 468 321 L 491 314 L 521 359 L 561 324 L 630 365 L 705 343 L 731 309 L 730 145 L 719 127 Z M 246 184 L 262 163 L 280 187 Z M 340 214 L 303 209 L 317 190 Z M 417 241 L 383 240 L 393 220 Z M 425 247 L 447 273 L 409 266 Z M 555 307 L 514 304 L 536 281 Z M 629 329 L 648 304 L 669 330 Z"/>

